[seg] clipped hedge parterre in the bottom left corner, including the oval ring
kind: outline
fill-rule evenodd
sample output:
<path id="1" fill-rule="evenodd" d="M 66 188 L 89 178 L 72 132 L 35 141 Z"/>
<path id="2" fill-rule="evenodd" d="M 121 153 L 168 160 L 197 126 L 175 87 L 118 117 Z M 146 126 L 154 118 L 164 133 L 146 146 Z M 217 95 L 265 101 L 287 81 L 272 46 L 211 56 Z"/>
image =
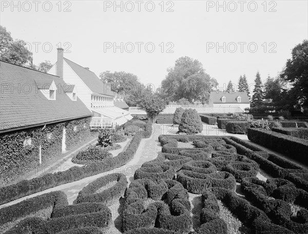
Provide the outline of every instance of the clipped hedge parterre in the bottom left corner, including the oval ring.
<path id="1" fill-rule="evenodd" d="M 117 183 L 104 187 L 113 181 Z M 126 187 L 125 175 L 114 173 L 86 186 L 73 205 L 68 205 L 62 191 L 24 200 L 1 209 L 0 231 L 6 234 L 106 233 L 112 222 L 106 204 L 119 200 Z"/>

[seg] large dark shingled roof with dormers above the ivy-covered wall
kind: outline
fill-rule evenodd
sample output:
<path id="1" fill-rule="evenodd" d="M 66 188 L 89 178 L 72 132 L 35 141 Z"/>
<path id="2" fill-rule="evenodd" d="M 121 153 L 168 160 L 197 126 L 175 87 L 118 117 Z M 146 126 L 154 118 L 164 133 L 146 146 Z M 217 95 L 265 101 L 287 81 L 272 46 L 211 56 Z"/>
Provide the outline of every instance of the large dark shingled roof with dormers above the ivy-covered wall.
<path id="1" fill-rule="evenodd" d="M 61 87 L 67 85 L 59 76 L 0 61 L 0 77 L 0 133 L 92 115 L 78 94 L 72 101 L 64 92 Z M 48 100 L 38 87 L 49 87 L 52 81 L 56 99 Z"/>

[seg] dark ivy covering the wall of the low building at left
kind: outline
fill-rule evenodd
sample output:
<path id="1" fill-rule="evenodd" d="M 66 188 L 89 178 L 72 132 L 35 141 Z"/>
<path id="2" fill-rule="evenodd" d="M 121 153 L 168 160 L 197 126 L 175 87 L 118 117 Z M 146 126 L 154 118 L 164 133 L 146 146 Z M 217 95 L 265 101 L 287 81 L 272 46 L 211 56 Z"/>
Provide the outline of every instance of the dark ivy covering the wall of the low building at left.
<path id="1" fill-rule="evenodd" d="M 43 163 L 61 155 L 64 126 L 67 150 L 88 140 L 91 136 L 90 121 L 91 117 L 0 134 L 0 185 L 35 169 L 39 165 L 40 145 Z M 48 133 L 51 133 L 50 139 Z M 24 140 L 28 136 L 31 137 L 31 145 L 24 146 Z"/>

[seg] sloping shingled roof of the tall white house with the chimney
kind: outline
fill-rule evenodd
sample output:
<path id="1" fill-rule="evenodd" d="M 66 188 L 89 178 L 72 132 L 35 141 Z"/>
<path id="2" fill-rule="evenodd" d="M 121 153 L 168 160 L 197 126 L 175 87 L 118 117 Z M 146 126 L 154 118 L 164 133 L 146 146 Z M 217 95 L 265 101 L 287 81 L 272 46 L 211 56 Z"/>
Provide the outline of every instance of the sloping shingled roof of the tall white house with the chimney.
<path id="1" fill-rule="evenodd" d="M 64 61 L 73 69 L 73 71 L 80 77 L 80 79 L 89 87 L 89 89 L 98 94 L 108 96 L 115 96 L 115 92 L 111 91 L 109 84 L 104 84 L 94 72 L 84 68 L 66 58 Z"/>

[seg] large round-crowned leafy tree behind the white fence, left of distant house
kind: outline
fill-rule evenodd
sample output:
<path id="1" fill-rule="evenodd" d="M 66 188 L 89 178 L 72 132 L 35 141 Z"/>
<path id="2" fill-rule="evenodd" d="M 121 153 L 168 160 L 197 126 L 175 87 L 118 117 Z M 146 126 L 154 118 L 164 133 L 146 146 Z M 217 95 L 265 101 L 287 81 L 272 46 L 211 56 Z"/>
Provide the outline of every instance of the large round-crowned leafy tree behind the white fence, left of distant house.
<path id="1" fill-rule="evenodd" d="M 205 73 L 198 60 L 185 56 L 168 69 L 166 79 L 162 81 L 162 92 L 168 102 L 185 98 L 189 102 L 205 103 L 209 92 L 217 85 L 217 81 Z"/>

